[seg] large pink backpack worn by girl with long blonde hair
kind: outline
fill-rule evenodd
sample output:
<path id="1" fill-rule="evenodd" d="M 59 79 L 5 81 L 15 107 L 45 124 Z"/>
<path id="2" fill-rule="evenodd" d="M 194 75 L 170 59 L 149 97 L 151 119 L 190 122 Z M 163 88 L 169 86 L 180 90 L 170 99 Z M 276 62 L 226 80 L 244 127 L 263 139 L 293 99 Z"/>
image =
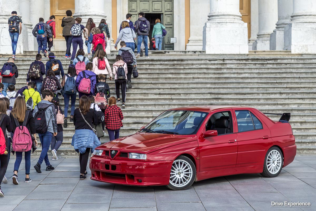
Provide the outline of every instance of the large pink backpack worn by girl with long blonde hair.
<path id="1" fill-rule="evenodd" d="M 27 152 L 32 149 L 32 138 L 30 132 L 25 126 L 29 112 L 30 111 L 27 110 L 27 112 L 25 113 L 25 118 L 22 126 L 20 126 L 17 119 L 14 118 L 15 124 L 18 126 L 15 128 L 12 139 L 12 148 L 15 152 Z"/>

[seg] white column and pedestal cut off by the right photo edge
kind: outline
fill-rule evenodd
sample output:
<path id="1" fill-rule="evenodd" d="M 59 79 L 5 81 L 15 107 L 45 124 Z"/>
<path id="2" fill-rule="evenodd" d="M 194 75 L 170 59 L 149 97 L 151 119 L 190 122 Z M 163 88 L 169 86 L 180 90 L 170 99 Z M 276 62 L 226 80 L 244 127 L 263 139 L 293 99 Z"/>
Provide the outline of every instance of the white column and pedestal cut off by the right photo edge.
<path id="1" fill-rule="evenodd" d="M 316 53 L 316 0 L 293 0 L 291 22 L 284 28 L 284 50 Z"/>

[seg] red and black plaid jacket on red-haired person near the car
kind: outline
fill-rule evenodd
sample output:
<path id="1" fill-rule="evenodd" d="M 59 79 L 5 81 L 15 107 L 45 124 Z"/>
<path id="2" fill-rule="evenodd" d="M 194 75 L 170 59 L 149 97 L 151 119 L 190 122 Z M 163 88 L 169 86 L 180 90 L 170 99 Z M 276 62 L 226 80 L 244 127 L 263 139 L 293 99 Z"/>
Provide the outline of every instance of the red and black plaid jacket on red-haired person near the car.
<path id="1" fill-rule="evenodd" d="M 121 127 L 123 127 L 123 113 L 117 105 L 108 106 L 105 109 L 104 117 L 106 129 L 119 130 Z"/>

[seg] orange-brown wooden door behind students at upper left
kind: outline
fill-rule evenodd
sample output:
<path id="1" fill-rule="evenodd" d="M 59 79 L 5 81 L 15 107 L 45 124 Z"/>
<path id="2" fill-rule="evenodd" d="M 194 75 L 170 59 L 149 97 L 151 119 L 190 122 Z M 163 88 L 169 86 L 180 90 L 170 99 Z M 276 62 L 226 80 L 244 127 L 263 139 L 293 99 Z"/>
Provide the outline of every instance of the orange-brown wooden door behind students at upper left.
<path id="1" fill-rule="evenodd" d="M 54 15 L 56 21 L 56 40 L 64 40 L 61 21 L 66 17 L 66 10 L 69 9 L 75 13 L 75 0 L 51 0 L 51 16 Z"/>

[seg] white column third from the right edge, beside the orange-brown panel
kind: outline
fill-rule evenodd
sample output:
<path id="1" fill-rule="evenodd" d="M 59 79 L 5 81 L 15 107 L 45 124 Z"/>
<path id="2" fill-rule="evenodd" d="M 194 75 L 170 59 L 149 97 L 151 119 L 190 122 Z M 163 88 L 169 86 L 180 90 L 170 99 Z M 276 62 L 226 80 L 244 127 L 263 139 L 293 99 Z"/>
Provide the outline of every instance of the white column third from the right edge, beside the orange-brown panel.
<path id="1" fill-rule="evenodd" d="M 277 16 L 276 0 L 259 0 L 259 32 L 257 40 L 252 45 L 252 50 L 270 50 L 270 34 L 273 32 Z"/>

